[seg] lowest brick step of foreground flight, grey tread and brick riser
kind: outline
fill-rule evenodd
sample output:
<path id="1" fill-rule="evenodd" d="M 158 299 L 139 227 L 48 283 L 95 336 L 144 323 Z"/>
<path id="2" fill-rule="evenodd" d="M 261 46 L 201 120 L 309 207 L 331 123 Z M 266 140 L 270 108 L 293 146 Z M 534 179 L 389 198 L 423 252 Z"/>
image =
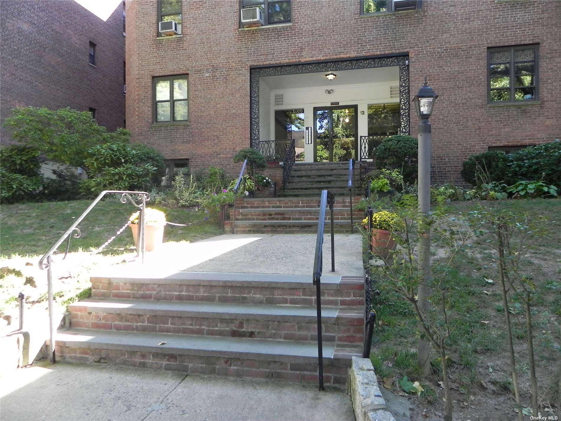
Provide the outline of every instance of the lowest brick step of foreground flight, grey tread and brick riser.
<path id="1" fill-rule="evenodd" d="M 360 354 L 357 346 L 325 342 L 325 384 L 344 387 L 351 358 Z M 71 328 L 57 333 L 56 357 L 189 374 L 318 382 L 314 342 Z"/>

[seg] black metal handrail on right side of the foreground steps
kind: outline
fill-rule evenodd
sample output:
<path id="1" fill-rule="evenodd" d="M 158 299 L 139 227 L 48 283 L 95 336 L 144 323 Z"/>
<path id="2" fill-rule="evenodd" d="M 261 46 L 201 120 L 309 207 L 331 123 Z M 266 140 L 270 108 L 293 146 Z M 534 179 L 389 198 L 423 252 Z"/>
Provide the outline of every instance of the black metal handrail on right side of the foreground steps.
<path id="1" fill-rule="evenodd" d="M 316 249 L 314 256 L 314 273 L 312 282 L 316 286 L 316 308 L 318 309 L 318 373 L 319 390 L 323 388 L 323 345 L 321 341 L 321 272 L 323 271 L 323 234 L 325 230 L 325 209 L 329 206 L 331 212 L 331 271 L 335 272 L 335 234 L 333 222 L 333 205 L 335 196 L 327 190 L 321 191 L 319 205 L 318 234 L 316 235 Z"/>

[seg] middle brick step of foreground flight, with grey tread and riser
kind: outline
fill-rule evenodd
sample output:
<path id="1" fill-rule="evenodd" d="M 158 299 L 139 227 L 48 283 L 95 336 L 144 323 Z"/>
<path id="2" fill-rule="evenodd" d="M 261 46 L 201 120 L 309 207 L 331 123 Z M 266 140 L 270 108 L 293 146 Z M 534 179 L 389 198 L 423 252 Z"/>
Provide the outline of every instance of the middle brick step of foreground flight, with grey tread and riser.
<path id="1" fill-rule="evenodd" d="M 308 298 L 312 302 L 311 298 Z M 323 307 L 323 306 L 322 306 Z M 84 300 L 68 306 L 72 328 L 317 341 L 315 306 Z M 360 344 L 361 307 L 323 308 L 323 340 Z"/>

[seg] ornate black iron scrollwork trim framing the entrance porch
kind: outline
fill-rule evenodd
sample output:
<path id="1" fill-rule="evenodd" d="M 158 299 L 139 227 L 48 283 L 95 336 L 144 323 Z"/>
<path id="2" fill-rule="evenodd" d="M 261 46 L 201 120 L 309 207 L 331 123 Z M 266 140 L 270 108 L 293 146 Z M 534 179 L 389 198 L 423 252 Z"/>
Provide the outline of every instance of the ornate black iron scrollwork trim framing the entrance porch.
<path id="1" fill-rule="evenodd" d="M 409 57 L 371 57 L 315 63 L 297 63 L 250 69 L 250 145 L 259 148 L 259 78 L 261 76 L 296 75 L 361 68 L 399 66 L 399 109 L 401 132 L 409 134 Z"/>

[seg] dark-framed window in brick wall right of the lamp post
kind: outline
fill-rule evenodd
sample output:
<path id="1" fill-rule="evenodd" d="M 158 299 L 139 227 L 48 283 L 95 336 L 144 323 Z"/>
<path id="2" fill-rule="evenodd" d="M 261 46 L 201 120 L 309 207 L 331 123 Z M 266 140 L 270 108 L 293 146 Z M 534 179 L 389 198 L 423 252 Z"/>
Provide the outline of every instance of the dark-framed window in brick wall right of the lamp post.
<path id="1" fill-rule="evenodd" d="M 489 48 L 488 103 L 538 100 L 538 45 Z"/>

